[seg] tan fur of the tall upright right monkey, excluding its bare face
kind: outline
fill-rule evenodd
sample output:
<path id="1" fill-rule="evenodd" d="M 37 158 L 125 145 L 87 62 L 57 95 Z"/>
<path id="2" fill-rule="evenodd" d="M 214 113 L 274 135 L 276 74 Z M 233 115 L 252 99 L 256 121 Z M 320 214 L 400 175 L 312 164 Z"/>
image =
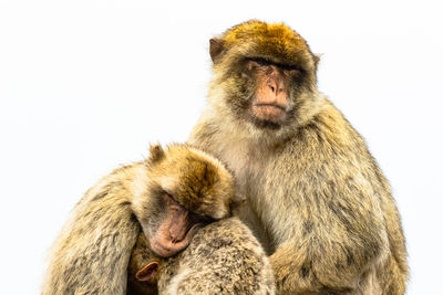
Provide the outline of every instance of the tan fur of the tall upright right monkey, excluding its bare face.
<path id="1" fill-rule="evenodd" d="M 212 41 L 208 105 L 189 143 L 235 172 L 240 214 L 270 254 L 281 294 L 403 294 L 406 251 L 388 181 L 364 140 L 317 89 L 317 59 L 284 24 L 249 21 Z M 245 59 L 298 66 L 290 119 L 259 128 L 246 115 L 255 84 Z"/>

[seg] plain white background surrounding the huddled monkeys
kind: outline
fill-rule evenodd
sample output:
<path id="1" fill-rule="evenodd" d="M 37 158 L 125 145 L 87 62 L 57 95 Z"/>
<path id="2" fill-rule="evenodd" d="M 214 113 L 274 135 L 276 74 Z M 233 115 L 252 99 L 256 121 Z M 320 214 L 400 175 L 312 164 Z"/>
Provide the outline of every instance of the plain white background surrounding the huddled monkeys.
<path id="1" fill-rule="evenodd" d="M 1 293 L 39 293 L 47 249 L 100 177 L 187 138 L 209 38 L 251 18 L 285 21 L 323 54 L 319 88 L 392 185 L 409 294 L 441 292 L 439 1 L 158 2 L 0 0 Z"/>

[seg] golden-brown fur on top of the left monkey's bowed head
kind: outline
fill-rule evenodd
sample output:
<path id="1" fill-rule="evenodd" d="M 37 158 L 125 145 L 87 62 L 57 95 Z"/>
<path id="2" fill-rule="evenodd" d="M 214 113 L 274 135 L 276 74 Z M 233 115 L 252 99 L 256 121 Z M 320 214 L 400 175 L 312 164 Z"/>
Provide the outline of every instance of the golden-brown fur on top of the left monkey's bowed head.
<path id="1" fill-rule="evenodd" d="M 174 196 L 190 212 L 220 219 L 228 215 L 229 203 L 234 201 L 233 176 L 214 157 L 185 145 L 171 146 L 167 157 L 151 164 L 147 172 L 148 193 L 162 190 Z M 134 212 L 148 206 L 144 196 L 134 197 Z"/>

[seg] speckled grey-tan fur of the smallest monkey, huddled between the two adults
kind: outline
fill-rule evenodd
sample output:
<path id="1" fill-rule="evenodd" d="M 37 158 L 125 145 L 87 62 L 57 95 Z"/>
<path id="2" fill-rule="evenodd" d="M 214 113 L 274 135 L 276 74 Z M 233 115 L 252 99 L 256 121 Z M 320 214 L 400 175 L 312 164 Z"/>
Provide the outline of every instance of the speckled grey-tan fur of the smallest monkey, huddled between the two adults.
<path id="1" fill-rule="evenodd" d="M 155 260 L 145 235 L 133 252 L 133 268 Z M 131 270 L 131 267 L 130 267 Z M 135 273 L 133 271 L 133 273 Z M 189 246 L 161 261 L 158 294 L 275 294 L 272 267 L 249 229 L 237 218 L 198 230 Z M 143 287 L 144 283 L 140 283 Z M 150 283 L 146 284 L 147 291 Z M 148 293 L 134 293 L 148 294 Z"/>

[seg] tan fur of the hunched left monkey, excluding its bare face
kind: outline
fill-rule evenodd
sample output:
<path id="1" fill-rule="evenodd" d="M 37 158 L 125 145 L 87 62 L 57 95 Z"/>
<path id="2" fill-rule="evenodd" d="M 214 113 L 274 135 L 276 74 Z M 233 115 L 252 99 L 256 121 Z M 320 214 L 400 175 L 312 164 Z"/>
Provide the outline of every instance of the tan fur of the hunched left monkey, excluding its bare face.
<path id="1" fill-rule="evenodd" d="M 42 294 L 126 294 L 132 250 L 141 230 L 150 236 L 162 221 L 164 192 L 207 219 L 230 214 L 234 180 L 222 162 L 184 145 L 151 154 L 105 176 L 75 206 L 52 246 Z"/>

